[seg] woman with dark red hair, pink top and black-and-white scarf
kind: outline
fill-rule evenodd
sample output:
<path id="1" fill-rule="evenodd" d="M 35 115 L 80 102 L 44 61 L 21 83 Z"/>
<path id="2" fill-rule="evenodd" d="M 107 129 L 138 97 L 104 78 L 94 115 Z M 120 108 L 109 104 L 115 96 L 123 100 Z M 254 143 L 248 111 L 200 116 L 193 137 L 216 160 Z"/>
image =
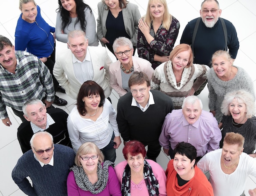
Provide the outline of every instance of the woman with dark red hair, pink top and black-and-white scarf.
<path id="1" fill-rule="evenodd" d="M 164 169 L 153 160 L 145 160 L 146 149 L 142 143 L 129 141 L 123 154 L 126 160 L 115 166 L 122 195 L 166 196 Z"/>

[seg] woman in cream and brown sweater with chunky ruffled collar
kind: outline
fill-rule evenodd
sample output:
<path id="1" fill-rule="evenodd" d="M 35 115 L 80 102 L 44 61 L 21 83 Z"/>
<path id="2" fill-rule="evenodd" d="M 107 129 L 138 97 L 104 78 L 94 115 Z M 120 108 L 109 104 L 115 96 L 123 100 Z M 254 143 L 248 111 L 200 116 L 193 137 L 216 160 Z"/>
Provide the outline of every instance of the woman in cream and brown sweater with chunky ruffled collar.
<path id="1" fill-rule="evenodd" d="M 174 109 L 181 109 L 184 98 L 194 95 L 207 79 L 210 68 L 193 64 L 193 53 L 187 44 L 177 45 L 169 59 L 155 69 L 150 86 L 170 96 Z"/>

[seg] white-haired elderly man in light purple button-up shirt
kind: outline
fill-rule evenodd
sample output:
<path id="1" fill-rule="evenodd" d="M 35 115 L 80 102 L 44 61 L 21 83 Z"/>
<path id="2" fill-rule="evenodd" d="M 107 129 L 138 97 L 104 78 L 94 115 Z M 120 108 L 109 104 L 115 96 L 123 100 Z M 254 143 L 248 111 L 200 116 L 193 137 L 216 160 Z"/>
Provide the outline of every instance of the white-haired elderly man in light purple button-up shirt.
<path id="1" fill-rule="evenodd" d="M 197 160 L 207 152 L 219 149 L 221 132 L 216 118 L 202 110 L 202 101 L 196 96 L 184 99 L 182 109 L 167 114 L 159 143 L 164 152 L 173 158 L 173 149 L 179 142 L 192 144 L 197 150 Z"/>

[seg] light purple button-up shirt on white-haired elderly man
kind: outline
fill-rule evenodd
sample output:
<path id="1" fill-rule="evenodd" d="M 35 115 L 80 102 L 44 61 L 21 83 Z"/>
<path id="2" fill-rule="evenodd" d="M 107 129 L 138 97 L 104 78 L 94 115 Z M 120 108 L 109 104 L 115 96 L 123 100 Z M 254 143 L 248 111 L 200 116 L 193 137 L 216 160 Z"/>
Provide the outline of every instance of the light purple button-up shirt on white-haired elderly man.
<path id="1" fill-rule="evenodd" d="M 182 109 L 174 109 L 167 114 L 162 126 L 159 143 L 162 147 L 174 149 L 177 143 L 192 144 L 197 156 L 220 148 L 221 131 L 212 113 L 202 110 L 199 119 L 192 125 L 185 119 Z"/>

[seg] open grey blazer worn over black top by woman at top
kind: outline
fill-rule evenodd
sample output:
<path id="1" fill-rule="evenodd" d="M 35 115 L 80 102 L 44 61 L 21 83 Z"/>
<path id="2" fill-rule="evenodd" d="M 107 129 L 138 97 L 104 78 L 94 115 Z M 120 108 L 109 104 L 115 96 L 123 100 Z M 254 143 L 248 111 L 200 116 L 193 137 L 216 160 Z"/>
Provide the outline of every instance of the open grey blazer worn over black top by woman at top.
<path id="1" fill-rule="evenodd" d="M 102 1 L 98 3 L 98 18 L 97 18 L 97 36 L 98 39 L 101 40 L 106 36 L 106 20 L 108 17 L 108 6 Z M 141 15 L 139 13 L 139 8 L 137 5 L 128 3 L 126 4 L 126 8 L 122 9 L 123 17 L 124 17 L 124 27 L 126 29 L 126 33 L 130 36 L 130 40 L 133 46 L 137 44 L 137 36 L 138 36 L 138 23 Z M 104 46 L 103 42 L 101 44 Z"/>

